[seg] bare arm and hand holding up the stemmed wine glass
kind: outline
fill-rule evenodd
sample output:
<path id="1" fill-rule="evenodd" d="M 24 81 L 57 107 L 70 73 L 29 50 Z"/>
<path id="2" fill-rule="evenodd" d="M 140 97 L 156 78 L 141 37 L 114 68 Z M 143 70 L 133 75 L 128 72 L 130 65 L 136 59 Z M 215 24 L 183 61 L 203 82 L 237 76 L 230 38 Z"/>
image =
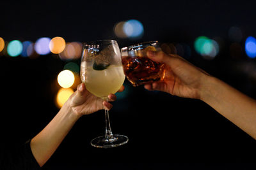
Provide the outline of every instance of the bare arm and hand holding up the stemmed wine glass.
<path id="1" fill-rule="evenodd" d="M 116 96 L 109 94 L 108 98 L 109 101 L 114 101 Z M 102 110 L 104 107 L 111 109 L 112 104 L 102 102 L 102 99 L 90 94 L 83 83 L 77 87 L 76 92 L 69 97 L 51 122 L 31 139 L 31 151 L 40 167 L 44 166 L 82 115 Z"/>

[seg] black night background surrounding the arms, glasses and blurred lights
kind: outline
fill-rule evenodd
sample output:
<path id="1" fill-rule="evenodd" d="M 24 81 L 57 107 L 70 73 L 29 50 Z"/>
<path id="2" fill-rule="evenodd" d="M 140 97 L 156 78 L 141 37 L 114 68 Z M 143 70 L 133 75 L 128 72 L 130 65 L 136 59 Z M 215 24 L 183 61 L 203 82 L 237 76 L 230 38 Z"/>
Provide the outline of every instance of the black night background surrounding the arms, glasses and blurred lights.
<path id="1" fill-rule="evenodd" d="M 191 54 L 182 57 L 256 98 L 256 61 L 244 52 L 245 39 L 256 36 L 253 1 L 4 1 L 0 8 L 0 36 L 6 41 L 62 36 L 81 42 L 116 39 L 120 47 L 149 40 L 183 43 Z M 115 36 L 114 25 L 129 19 L 143 24 L 142 38 Z M 233 26 L 243 30 L 239 57 L 230 52 Z M 198 36 L 223 39 L 213 60 L 195 52 Z M 0 57 L 1 141 L 33 138 L 58 113 L 56 78 L 63 66 L 65 61 L 51 54 Z M 98 111 L 74 125 L 45 169 L 255 168 L 255 139 L 204 102 L 124 85 L 126 95 L 113 103 L 110 118 L 113 132 L 129 136 L 129 143 L 90 146 L 104 134 L 104 111 Z"/>

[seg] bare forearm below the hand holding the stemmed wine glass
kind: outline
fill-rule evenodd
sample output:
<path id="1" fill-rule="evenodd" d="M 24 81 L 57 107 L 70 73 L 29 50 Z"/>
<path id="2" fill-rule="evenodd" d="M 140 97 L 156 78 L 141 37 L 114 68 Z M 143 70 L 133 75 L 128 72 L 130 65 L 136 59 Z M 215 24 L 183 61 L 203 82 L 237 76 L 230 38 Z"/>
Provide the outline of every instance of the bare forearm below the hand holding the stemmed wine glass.
<path id="1" fill-rule="evenodd" d="M 67 105 L 64 105 L 51 122 L 31 140 L 31 151 L 41 167 L 79 119 Z"/>

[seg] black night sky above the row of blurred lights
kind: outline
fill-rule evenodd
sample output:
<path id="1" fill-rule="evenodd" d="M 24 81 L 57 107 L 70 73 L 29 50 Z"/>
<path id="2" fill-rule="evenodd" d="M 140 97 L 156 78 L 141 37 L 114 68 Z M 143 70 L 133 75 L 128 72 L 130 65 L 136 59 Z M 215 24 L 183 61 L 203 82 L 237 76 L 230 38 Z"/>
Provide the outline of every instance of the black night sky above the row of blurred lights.
<path id="1" fill-rule="evenodd" d="M 67 41 L 117 39 L 116 22 L 137 19 L 143 39 L 159 39 L 184 29 L 190 36 L 225 36 L 230 27 L 255 29 L 252 1 L 7 1 L 1 5 L 1 36 L 35 41 L 63 36 Z M 247 32 L 252 34 L 252 32 Z M 142 40 L 143 40 L 142 39 Z M 122 43 L 122 39 L 117 39 Z M 172 39 L 168 39 L 172 41 Z"/>

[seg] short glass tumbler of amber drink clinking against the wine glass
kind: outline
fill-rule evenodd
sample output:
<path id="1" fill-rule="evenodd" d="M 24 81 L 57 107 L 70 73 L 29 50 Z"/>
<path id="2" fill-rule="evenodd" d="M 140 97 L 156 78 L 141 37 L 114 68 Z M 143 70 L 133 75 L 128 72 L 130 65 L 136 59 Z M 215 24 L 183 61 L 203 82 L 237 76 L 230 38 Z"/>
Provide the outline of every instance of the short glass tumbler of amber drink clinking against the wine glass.
<path id="1" fill-rule="evenodd" d="M 133 86 L 164 79 L 164 64 L 148 59 L 147 50 L 159 51 L 158 41 L 149 41 L 121 49 L 124 73 Z"/>

